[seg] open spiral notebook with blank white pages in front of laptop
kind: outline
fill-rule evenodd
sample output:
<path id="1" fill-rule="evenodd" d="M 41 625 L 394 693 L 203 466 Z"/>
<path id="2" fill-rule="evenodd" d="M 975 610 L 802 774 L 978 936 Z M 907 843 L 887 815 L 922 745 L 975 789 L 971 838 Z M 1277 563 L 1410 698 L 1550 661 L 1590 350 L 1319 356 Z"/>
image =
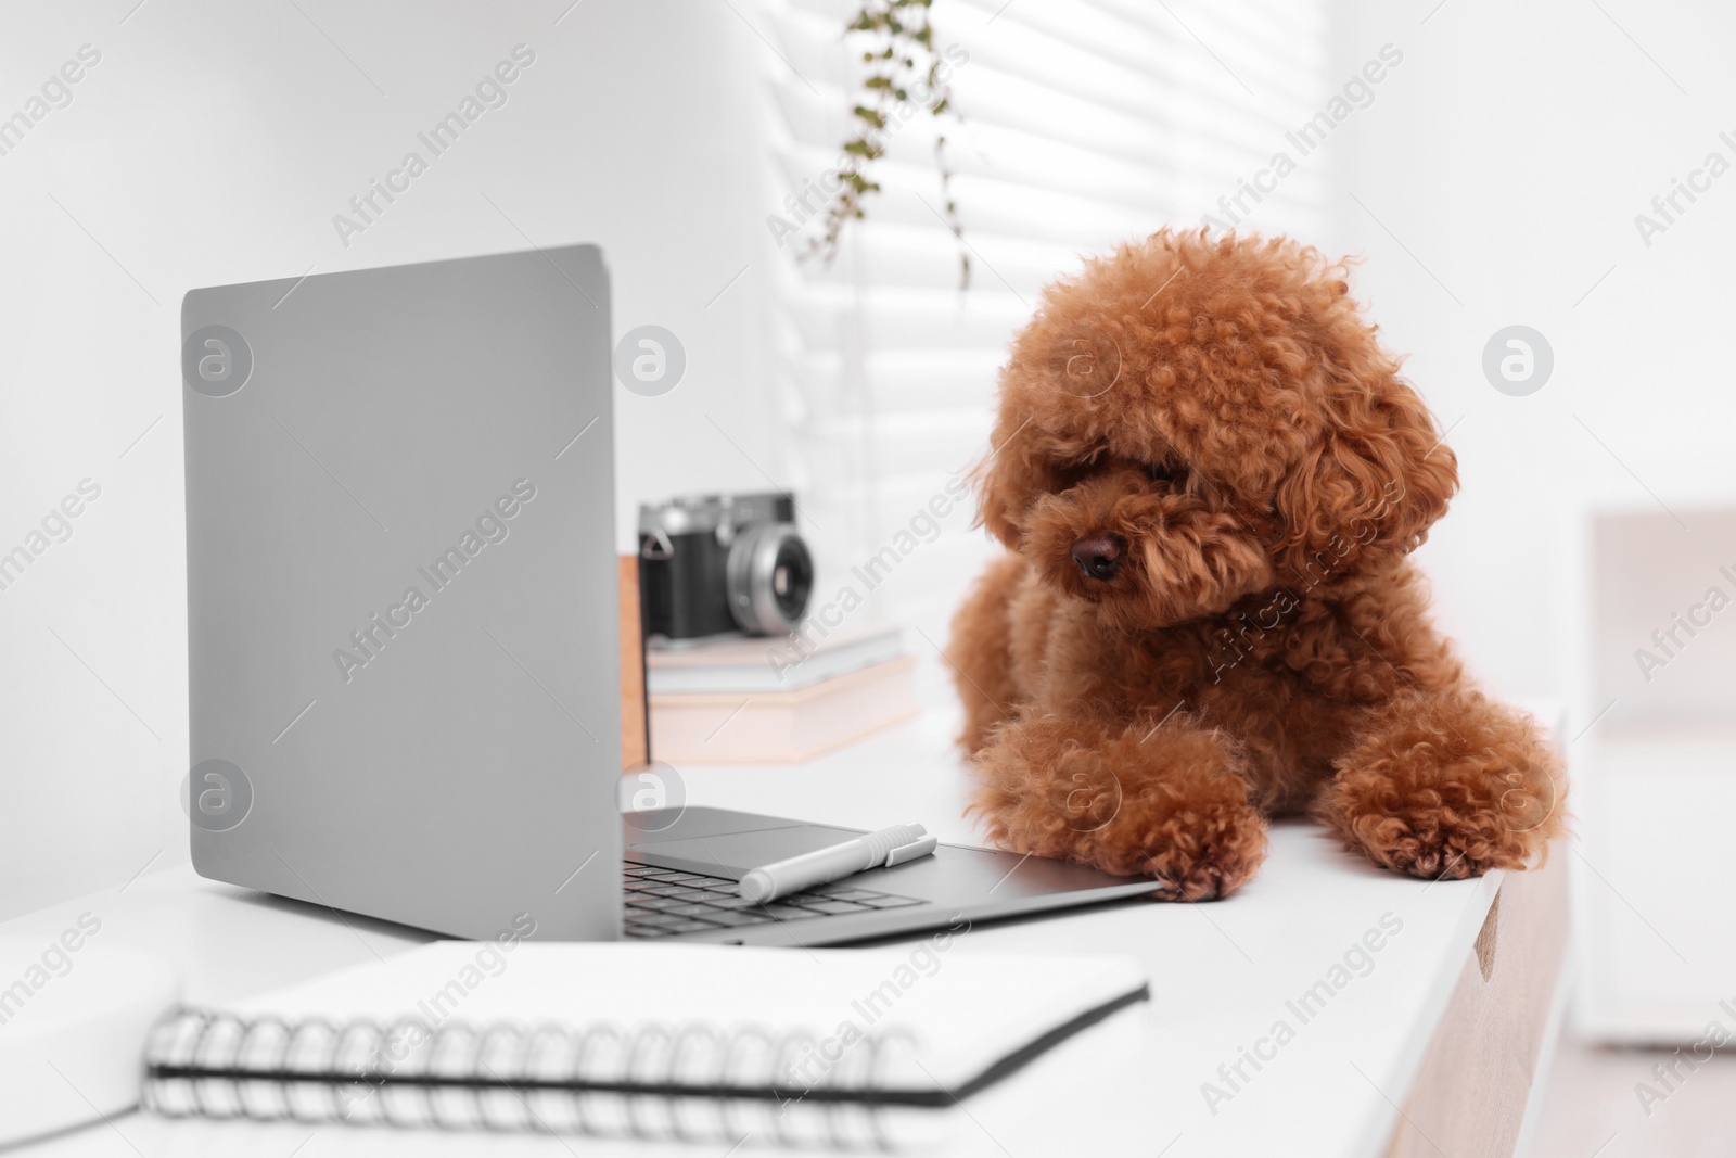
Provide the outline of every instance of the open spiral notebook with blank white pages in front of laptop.
<path id="1" fill-rule="evenodd" d="M 1121 957 L 436 941 L 181 1007 L 163 1115 L 806 1146 L 927 1144 L 953 1108 L 1149 997 Z"/>

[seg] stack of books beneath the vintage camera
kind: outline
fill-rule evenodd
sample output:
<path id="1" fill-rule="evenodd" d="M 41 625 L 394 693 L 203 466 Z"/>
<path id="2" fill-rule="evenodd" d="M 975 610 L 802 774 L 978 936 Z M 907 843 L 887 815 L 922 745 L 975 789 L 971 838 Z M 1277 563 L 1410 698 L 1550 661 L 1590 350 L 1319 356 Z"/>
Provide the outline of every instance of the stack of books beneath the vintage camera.
<path id="1" fill-rule="evenodd" d="M 898 628 L 651 641 L 651 759 L 806 760 L 917 714 L 915 658 Z"/>

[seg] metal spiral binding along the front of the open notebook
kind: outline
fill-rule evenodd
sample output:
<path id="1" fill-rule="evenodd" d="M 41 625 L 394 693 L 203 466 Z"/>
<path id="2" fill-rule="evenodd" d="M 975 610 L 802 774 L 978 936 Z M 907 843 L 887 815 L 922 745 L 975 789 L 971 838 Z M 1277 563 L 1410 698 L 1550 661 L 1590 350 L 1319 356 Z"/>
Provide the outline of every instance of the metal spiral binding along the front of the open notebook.
<path id="1" fill-rule="evenodd" d="M 752 1026 L 290 1023 L 179 1007 L 151 1030 L 142 1102 L 167 1116 L 891 1149 L 885 1118 L 901 1108 L 875 1092 L 898 1040 L 866 1035 L 832 1059 L 830 1040 Z"/>

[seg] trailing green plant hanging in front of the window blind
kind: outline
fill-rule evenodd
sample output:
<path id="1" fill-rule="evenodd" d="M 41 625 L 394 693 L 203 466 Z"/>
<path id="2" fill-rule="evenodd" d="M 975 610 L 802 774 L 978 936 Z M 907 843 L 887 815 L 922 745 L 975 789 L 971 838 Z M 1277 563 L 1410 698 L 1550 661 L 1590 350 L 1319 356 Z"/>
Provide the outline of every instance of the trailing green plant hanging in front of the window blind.
<path id="1" fill-rule="evenodd" d="M 851 108 L 852 134 L 844 142 L 851 165 L 838 172 L 842 186 L 826 205 L 825 231 L 809 243 L 809 257 L 818 253 L 830 264 L 837 257 L 844 226 L 866 217 L 865 200 L 880 191 L 870 168 L 885 153 L 889 135 L 906 120 L 898 115 L 899 106 L 911 102 L 925 108 L 930 116 L 951 113 L 958 120 L 951 108 L 948 64 L 934 47 L 934 24 L 929 19 L 932 5 L 934 0 L 865 0 L 844 26 L 845 38 L 866 40 L 870 47 L 861 54 L 861 94 Z M 934 137 L 934 167 L 941 177 L 939 214 L 958 240 L 958 288 L 965 290 L 970 286 L 970 252 L 963 241 L 958 203 L 953 200 L 944 132 Z"/>

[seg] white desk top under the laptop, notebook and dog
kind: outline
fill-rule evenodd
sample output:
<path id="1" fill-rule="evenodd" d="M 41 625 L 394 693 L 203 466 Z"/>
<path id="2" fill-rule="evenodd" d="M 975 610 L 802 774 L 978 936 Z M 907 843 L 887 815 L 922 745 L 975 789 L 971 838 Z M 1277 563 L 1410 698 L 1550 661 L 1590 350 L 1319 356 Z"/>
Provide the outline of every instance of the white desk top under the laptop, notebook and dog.
<path id="1" fill-rule="evenodd" d="M 970 823 L 960 818 L 967 783 L 948 747 L 951 727 L 951 719 L 924 717 L 797 767 L 682 769 L 686 797 L 689 804 L 863 828 L 922 819 L 944 840 L 977 842 Z M 1519 880 L 1514 877 L 1507 884 Z M 1458 1009 L 1462 997 L 1455 993 L 1476 983 L 1472 943 L 1502 889 L 1500 873 L 1481 880 L 1424 884 L 1380 872 L 1344 852 L 1325 830 L 1285 823 L 1272 830 L 1271 856 L 1260 875 L 1229 901 L 1135 901 L 979 925 L 960 938 L 953 951 L 1113 951 L 1130 953 L 1146 964 L 1153 1002 L 1137 1014 L 1146 1023 L 1142 1052 L 1137 1063 L 1118 1064 L 1120 1073 L 1115 1075 L 1125 1089 L 1118 1097 L 1127 1099 L 1125 1120 L 1111 1127 L 1125 1139 L 1116 1146 L 1118 1153 L 1163 1153 L 1168 1158 L 1434 1153 L 1417 1137 L 1406 1141 L 1394 1135 L 1394 1127 L 1403 1125 L 1399 1106 L 1406 1106 L 1406 1115 L 1429 1139 L 1439 1139 L 1441 1148 L 1458 1158 L 1458 1148 L 1439 1137 L 1451 1127 L 1432 1125 L 1453 1122 L 1457 1111 L 1451 1106 L 1430 1108 L 1430 1092 L 1413 1087 L 1418 1073 L 1453 1069 L 1437 1057 L 1443 1049 L 1448 1057 L 1455 1056 L 1441 1042 L 1446 1036 L 1443 1016 L 1450 1003 Z M 373 953 L 403 951 L 424 939 L 396 925 L 340 918 L 307 905 L 201 880 L 186 865 L 141 877 L 125 892 L 116 887 L 5 922 L 0 936 L 47 941 L 85 910 L 101 917 L 104 943 L 153 948 L 181 962 L 186 998 L 193 1002 L 224 1002 L 288 984 L 370 960 Z M 1503 903 L 1503 913 L 1512 910 L 1524 911 L 1517 901 Z M 1382 931 L 1382 920 L 1385 936 L 1370 938 L 1370 931 Z M 1394 934 L 1397 922 L 1403 927 Z M 1521 936 L 1522 929 L 1510 932 L 1502 924 L 1502 951 Z M 1364 976 L 1351 970 L 1335 974 L 1333 967 L 1342 965 L 1345 953 L 1363 944 L 1364 938 L 1380 944 L 1378 951 L 1368 953 L 1366 965 L 1352 953 L 1351 964 Z M 1559 957 L 1554 960 L 1559 962 Z M 1500 977 L 1505 958 L 1496 962 Z M 1550 984 L 1542 993 L 1545 1005 L 1555 988 L 1555 972 L 1549 972 Z M 1304 995 L 1321 981 L 1344 984 L 1330 1000 L 1316 998 L 1318 1005 L 1299 1009 Z M 1272 1036 L 1279 1023 L 1290 1030 L 1290 1035 L 1278 1031 L 1281 1043 Z M 1087 1043 L 1088 1038 L 1085 1035 L 1078 1042 Z M 1243 1061 L 1243 1049 L 1267 1056 L 1259 1071 Z M 1529 1068 L 1535 1069 L 1536 1043 L 1528 1049 L 1529 1054 L 1526 1049 L 1519 1052 L 1531 1059 Z M 1219 1066 L 1234 1075 L 1238 1061 L 1243 1075 L 1234 1078 L 1233 1087 Z M 1090 1050 L 1076 1050 L 1068 1064 L 1092 1064 Z M 1509 1116 L 1522 1111 L 1531 1073 L 1498 1076 L 1509 1095 L 1517 1083 L 1517 1109 Z M 1207 1082 L 1227 1097 L 1217 1097 L 1208 1106 L 1201 1089 Z M 1062 1127 L 1059 1135 L 1045 1137 L 1031 1130 L 976 1137 L 962 1149 L 1017 1158 L 1061 1153 L 1055 1149 L 1062 1144 L 1057 1137 L 1066 1137 L 1068 1116 L 1085 1108 L 1045 1102 L 1045 1095 L 1054 1099 L 1052 1087 L 1036 1069 L 1019 1075 L 1009 1089 L 1023 1101 L 1042 1106 L 1052 1125 Z M 1450 1094 L 1448 1101 L 1453 1095 L 1462 1094 Z M 1410 1127 L 1404 1130 L 1411 1132 Z M 297 1151 L 304 1141 L 306 1146 Z M 40 1142 L 28 1153 L 116 1158 L 248 1153 L 288 1158 L 295 1151 L 297 1158 L 321 1158 L 337 1153 L 460 1155 L 483 1146 L 490 1153 L 538 1155 L 712 1153 L 535 1135 L 168 1122 L 137 1113 L 113 1125 Z"/>

